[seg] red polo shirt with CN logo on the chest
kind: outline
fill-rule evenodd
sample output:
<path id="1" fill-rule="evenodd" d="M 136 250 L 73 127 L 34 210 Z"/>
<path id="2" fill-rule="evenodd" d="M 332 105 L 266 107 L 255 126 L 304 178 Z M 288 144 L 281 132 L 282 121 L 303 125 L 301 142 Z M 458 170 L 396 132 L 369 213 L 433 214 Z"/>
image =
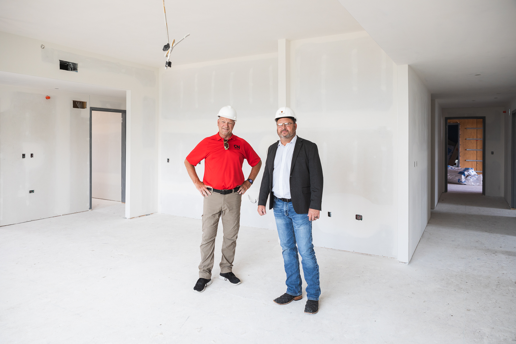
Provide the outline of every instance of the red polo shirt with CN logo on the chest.
<path id="1" fill-rule="evenodd" d="M 229 149 L 224 149 L 224 140 L 219 133 L 199 142 L 188 154 L 186 160 L 196 166 L 204 159 L 204 178 L 202 182 L 219 190 L 230 190 L 244 183 L 242 164 L 244 159 L 251 166 L 260 162 L 260 157 L 246 140 L 235 134 L 228 140 Z"/>

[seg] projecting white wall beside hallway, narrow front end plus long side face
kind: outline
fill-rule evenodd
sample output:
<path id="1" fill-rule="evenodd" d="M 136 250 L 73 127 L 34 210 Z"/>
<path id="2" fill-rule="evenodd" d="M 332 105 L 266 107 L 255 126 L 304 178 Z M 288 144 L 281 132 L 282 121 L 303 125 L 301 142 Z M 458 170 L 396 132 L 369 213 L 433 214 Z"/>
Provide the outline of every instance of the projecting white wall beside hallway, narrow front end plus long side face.
<path id="1" fill-rule="evenodd" d="M 409 263 L 430 219 L 431 99 L 412 68 L 398 79 L 398 260 Z"/>

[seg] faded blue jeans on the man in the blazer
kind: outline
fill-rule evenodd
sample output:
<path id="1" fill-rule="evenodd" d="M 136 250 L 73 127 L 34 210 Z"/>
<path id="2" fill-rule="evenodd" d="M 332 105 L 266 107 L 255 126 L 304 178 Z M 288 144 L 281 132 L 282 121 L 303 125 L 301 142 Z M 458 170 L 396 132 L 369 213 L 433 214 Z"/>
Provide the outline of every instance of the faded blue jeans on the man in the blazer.
<path id="1" fill-rule="evenodd" d="M 302 294 L 301 272 L 299 270 L 299 254 L 303 265 L 304 280 L 307 281 L 307 297 L 309 300 L 319 300 L 319 265 L 315 258 L 312 244 L 312 222 L 308 214 L 297 214 L 292 202 L 283 202 L 274 198 L 274 217 L 278 227 L 283 261 L 287 274 L 287 293 L 293 296 Z M 296 246 L 297 244 L 297 246 Z"/>

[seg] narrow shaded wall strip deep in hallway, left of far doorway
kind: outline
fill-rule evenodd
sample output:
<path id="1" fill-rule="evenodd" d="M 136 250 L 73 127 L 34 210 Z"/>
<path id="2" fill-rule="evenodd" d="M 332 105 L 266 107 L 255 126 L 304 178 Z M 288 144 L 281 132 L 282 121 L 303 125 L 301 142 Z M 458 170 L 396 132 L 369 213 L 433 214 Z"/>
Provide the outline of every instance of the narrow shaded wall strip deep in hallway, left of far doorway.
<path id="1" fill-rule="evenodd" d="M 430 209 L 434 209 L 439 203 L 439 197 L 444 192 L 444 162 L 442 154 L 443 150 L 443 109 L 438 101 L 431 101 L 431 158 L 430 158 Z"/>

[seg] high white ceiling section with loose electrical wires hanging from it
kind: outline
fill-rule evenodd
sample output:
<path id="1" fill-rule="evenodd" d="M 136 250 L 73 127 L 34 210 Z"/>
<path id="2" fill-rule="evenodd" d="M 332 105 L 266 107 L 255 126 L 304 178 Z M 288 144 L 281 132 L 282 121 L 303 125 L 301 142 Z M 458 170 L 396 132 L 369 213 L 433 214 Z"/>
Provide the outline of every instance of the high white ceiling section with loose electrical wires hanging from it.
<path id="1" fill-rule="evenodd" d="M 362 31 L 337 0 L 166 0 L 172 64 L 278 51 L 278 39 Z M 0 2 L 0 31 L 165 67 L 161 0 Z"/>

